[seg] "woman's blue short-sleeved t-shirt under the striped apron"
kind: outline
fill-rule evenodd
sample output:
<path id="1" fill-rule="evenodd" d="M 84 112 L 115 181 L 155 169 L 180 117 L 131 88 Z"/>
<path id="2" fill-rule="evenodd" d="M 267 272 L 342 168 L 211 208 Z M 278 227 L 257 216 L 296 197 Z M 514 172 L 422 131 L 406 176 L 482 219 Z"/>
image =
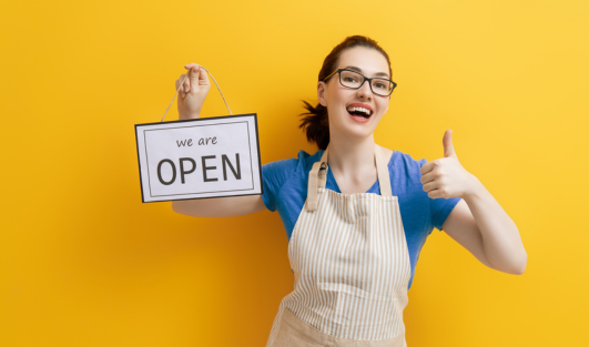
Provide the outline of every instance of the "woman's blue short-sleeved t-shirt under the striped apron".
<path id="1" fill-rule="evenodd" d="M 309 155 L 305 151 L 298 151 L 297 159 L 287 159 L 262 165 L 264 204 L 272 212 L 278 211 L 288 241 L 291 241 L 293 228 L 307 198 L 308 173 L 313 164 L 321 160 L 323 152 L 319 150 Z M 441 229 L 446 217 L 460 201 L 459 197 L 430 198 L 427 196 L 427 193 L 423 190 L 422 182 L 419 182 L 422 177 L 419 170 L 426 163 L 425 159 L 415 161 L 410 155 L 399 151 L 393 152 L 388 163 L 390 188 L 393 195 L 398 196 L 400 216 L 412 263 L 412 277 L 408 288 L 412 287 L 415 265 L 427 236 L 431 234 L 434 227 Z M 331 170 L 327 170 L 325 187 L 342 193 Z M 366 193 L 380 195 L 378 181 Z"/>

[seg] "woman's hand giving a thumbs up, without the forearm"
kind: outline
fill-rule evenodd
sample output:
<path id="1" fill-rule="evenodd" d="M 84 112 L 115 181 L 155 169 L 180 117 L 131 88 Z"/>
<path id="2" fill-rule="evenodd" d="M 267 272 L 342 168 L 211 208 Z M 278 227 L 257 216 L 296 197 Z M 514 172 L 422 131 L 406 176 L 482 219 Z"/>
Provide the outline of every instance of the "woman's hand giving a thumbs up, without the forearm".
<path id="1" fill-rule="evenodd" d="M 431 198 L 465 197 L 475 191 L 477 178 L 467 172 L 454 151 L 451 130 L 444 134 L 444 157 L 422 166 L 424 191 Z"/>

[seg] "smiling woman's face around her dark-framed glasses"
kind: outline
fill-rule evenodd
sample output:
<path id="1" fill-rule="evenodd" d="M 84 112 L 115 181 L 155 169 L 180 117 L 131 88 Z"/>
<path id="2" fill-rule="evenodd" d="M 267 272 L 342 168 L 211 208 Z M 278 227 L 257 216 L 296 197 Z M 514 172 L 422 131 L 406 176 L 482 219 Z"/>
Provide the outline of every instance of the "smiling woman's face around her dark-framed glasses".
<path id="1" fill-rule="evenodd" d="M 384 76 L 390 80 L 386 58 L 377 50 L 355 47 L 339 55 L 336 69 L 356 70 L 367 78 Z M 329 137 L 345 136 L 365 139 L 374 133 L 380 118 L 388 110 L 389 96 L 380 96 L 370 90 L 368 81 L 359 89 L 345 88 L 335 73 L 327 82 L 318 82 L 317 96 L 319 103 L 327 108 L 329 119 Z M 369 118 L 353 115 L 353 108 L 370 111 Z"/>

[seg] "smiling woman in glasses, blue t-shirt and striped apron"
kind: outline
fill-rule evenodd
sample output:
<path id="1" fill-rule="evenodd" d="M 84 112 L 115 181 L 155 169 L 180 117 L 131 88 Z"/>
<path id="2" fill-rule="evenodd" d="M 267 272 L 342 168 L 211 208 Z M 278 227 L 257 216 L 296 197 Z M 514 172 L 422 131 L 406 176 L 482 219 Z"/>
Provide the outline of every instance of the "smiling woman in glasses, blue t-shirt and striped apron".
<path id="1" fill-rule="evenodd" d="M 181 89 L 180 119 L 194 119 L 211 85 L 197 64 L 185 68 L 191 76 Z M 375 143 L 395 85 L 388 55 L 374 40 L 346 38 L 324 61 L 319 104 L 305 103 L 301 127 L 319 151 L 263 165 L 263 196 L 172 203 L 192 216 L 278 210 L 295 285 L 278 307 L 268 347 L 406 346 L 407 290 L 434 227 L 483 264 L 524 273 L 516 225 L 460 165 L 450 131 L 445 156 L 429 163 Z"/>

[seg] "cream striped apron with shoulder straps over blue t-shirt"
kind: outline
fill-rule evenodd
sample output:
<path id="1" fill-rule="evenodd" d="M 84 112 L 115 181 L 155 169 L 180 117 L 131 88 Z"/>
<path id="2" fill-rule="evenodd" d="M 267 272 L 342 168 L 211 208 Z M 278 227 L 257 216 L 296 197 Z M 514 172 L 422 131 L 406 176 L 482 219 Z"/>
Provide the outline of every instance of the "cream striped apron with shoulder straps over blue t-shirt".
<path id="1" fill-rule="evenodd" d="M 309 172 L 288 243 L 294 290 L 266 347 L 406 347 L 409 251 L 383 149 L 375 145 L 382 195 L 326 190 L 327 153 Z"/>

